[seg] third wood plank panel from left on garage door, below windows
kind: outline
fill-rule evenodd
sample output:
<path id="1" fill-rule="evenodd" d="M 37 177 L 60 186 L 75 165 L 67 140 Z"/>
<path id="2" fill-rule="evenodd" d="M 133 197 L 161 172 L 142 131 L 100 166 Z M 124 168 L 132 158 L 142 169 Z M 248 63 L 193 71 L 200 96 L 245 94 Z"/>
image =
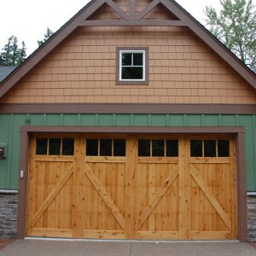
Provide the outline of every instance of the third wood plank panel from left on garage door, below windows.
<path id="1" fill-rule="evenodd" d="M 178 237 L 178 163 L 164 162 L 159 159 L 143 163 L 142 160 L 137 165 L 135 215 L 138 238 Z"/>

